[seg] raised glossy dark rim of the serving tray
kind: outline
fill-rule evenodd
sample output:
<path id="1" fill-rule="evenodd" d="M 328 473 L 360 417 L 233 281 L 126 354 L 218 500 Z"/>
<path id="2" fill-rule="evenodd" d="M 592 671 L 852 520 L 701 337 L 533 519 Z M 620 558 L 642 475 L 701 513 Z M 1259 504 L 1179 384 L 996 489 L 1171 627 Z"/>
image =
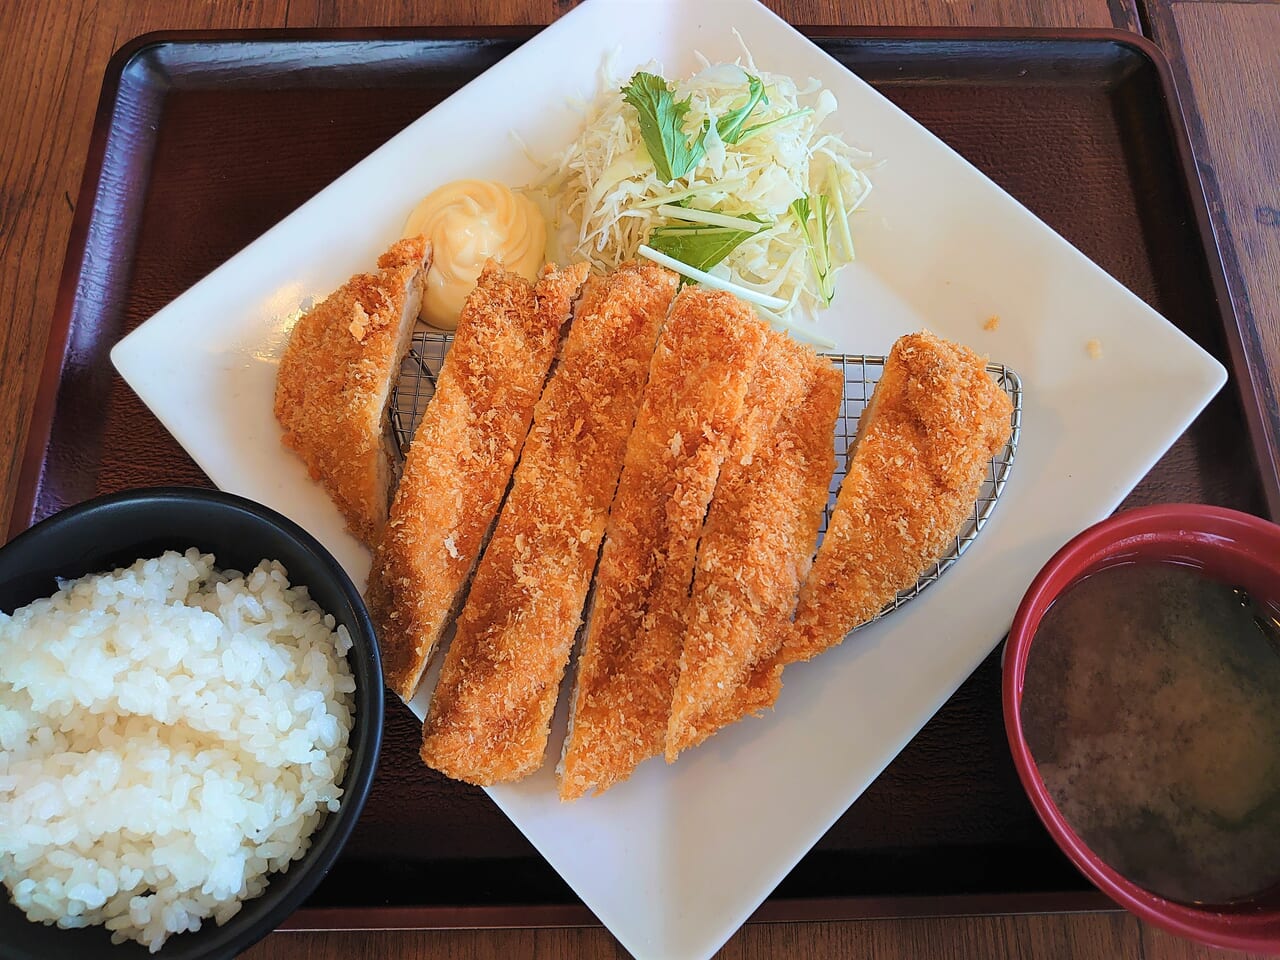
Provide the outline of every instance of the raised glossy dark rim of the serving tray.
<path id="1" fill-rule="evenodd" d="M 26 444 L 18 466 L 18 483 L 9 518 L 6 539 L 35 522 L 40 484 L 49 447 L 56 394 L 72 334 L 78 280 L 88 247 L 90 228 L 95 219 L 95 200 L 102 175 L 106 146 L 113 129 L 120 86 L 129 65 L 157 47 L 188 44 L 308 44 L 308 42 L 396 42 L 396 41 L 526 41 L 541 26 L 434 26 L 434 27 L 283 27 L 257 29 L 165 29 L 140 35 L 125 41 L 113 54 L 104 72 L 90 137 L 84 172 L 77 195 L 76 214 L 68 237 L 67 255 L 59 279 L 55 308 L 37 385 L 36 402 L 28 422 Z M 1184 108 L 1165 54 L 1149 38 L 1120 28 L 1056 28 L 1056 27 L 884 27 L 809 24 L 797 29 L 813 40 L 846 41 L 915 41 L 948 44 L 974 42 L 1052 42 L 1097 45 L 1114 44 L 1128 47 L 1148 61 L 1158 79 L 1164 119 L 1176 150 L 1172 163 L 1179 168 L 1187 198 L 1194 216 L 1196 233 L 1204 257 L 1217 312 L 1222 323 L 1230 372 L 1236 376 L 1239 401 L 1249 430 L 1251 447 L 1258 467 L 1258 479 L 1271 518 L 1280 518 L 1280 472 L 1276 465 L 1263 461 L 1266 451 L 1263 398 L 1253 392 L 1251 366 L 1233 301 L 1228 293 L 1225 268 L 1215 242 L 1204 186 L 1192 152 Z M 1097 890 L 1062 892 L 1006 892 L 938 896 L 854 896 L 800 897 L 767 900 L 749 918 L 749 923 L 788 923 L 819 920 L 941 918 L 972 915 L 1015 915 L 1030 913 L 1119 911 L 1120 908 Z M 599 925 L 595 915 L 582 904 L 536 905 L 462 905 L 462 906 L 397 906 L 397 908 L 307 908 L 303 905 L 282 931 L 374 931 L 374 929 L 498 929 L 526 927 Z"/>

